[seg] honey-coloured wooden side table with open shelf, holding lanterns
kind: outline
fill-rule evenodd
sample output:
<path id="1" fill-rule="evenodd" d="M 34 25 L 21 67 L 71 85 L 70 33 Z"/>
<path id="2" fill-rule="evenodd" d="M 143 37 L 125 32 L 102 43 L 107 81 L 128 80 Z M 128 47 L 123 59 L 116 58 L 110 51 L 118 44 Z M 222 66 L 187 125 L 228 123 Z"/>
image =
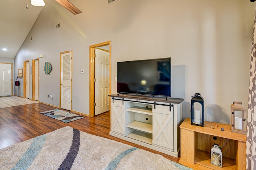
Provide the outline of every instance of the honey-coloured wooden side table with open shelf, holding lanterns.
<path id="1" fill-rule="evenodd" d="M 218 127 L 211 129 L 215 124 Z M 246 135 L 233 133 L 230 127 L 209 121 L 204 121 L 204 127 L 191 125 L 186 118 L 180 125 L 179 163 L 196 170 L 245 170 Z M 222 168 L 211 164 L 210 150 L 214 143 L 222 148 Z"/>

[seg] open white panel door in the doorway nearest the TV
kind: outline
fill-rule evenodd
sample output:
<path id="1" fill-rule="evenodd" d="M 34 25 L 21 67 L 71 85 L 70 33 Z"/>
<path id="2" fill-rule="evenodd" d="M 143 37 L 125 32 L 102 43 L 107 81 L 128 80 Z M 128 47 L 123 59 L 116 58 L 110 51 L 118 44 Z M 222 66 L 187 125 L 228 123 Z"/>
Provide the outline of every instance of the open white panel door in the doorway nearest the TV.
<path id="1" fill-rule="evenodd" d="M 95 115 L 109 111 L 109 53 L 95 49 Z"/>

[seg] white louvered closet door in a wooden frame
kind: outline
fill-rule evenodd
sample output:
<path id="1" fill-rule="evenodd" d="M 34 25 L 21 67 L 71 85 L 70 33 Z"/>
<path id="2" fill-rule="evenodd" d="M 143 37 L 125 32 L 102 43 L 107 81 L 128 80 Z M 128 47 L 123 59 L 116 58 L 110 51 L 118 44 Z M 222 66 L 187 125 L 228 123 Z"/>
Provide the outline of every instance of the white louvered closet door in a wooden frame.
<path id="1" fill-rule="evenodd" d="M 72 110 L 72 52 L 61 54 L 60 107 Z"/>

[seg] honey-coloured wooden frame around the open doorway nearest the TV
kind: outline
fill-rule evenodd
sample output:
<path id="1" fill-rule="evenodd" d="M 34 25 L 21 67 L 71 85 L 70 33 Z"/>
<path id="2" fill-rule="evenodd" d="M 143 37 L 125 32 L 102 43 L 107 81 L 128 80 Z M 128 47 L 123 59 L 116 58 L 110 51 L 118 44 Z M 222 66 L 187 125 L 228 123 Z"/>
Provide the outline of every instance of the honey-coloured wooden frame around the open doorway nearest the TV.
<path id="1" fill-rule="evenodd" d="M 104 43 L 98 43 L 95 45 L 90 45 L 89 47 L 89 117 L 94 117 L 95 115 L 95 58 L 94 49 L 97 47 L 103 47 L 109 45 L 109 93 L 111 94 L 111 41 L 106 41 Z M 109 105 L 110 106 L 110 105 Z"/>

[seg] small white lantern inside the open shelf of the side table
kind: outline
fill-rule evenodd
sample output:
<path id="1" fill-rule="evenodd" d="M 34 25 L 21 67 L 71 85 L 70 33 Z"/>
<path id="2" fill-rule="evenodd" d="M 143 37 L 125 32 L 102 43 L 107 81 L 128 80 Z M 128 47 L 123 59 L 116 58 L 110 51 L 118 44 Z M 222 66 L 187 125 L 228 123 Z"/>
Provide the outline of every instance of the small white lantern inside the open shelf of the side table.
<path id="1" fill-rule="evenodd" d="M 212 145 L 211 149 L 211 164 L 222 167 L 222 152 L 218 144 Z"/>

